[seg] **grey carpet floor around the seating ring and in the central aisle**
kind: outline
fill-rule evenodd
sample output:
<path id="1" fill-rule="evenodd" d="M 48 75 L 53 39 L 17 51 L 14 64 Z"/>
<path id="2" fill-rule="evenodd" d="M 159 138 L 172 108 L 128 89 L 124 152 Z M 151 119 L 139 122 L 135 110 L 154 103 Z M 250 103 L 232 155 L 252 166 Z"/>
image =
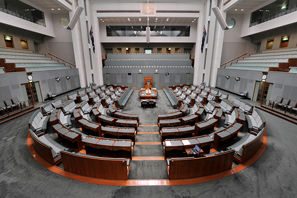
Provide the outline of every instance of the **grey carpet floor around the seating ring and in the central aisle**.
<path id="1" fill-rule="evenodd" d="M 141 124 L 156 124 L 151 119 L 158 113 L 173 111 L 160 92 L 157 107 L 140 107 L 139 99 L 133 96 L 124 111 L 148 115 L 141 117 Z M 133 97 L 133 98 L 132 98 Z M 168 101 L 168 100 L 167 100 Z M 135 102 L 135 106 L 131 105 Z M 252 103 L 252 102 L 251 102 Z M 258 105 L 257 103 L 254 103 Z M 168 109 L 166 109 L 168 107 Z M 160 108 L 160 112 L 157 112 Z M 146 112 L 146 113 L 143 113 Z M 150 113 L 148 113 L 150 112 Z M 263 155 L 246 169 L 231 176 L 199 184 L 181 186 L 121 187 L 89 184 L 57 175 L 31 156 L 26 140 L 30 112 L 0 125 L 0 197 L 1 198 L 296 198 L 297 197 L 297 130 L 296 125 L 261 111 L 266 119 L 268 144 Z M 143 119 L 145 118 L 145 119 Z M 157 127 L 143 127 L 142 131 L 157 131 Z M 135 161 L 129 178 L 164 178 L 164 161 Z M 140 169 L 148 169 L 140 172 Z M 150 176 L 151 175 L 151 176 Z"/>

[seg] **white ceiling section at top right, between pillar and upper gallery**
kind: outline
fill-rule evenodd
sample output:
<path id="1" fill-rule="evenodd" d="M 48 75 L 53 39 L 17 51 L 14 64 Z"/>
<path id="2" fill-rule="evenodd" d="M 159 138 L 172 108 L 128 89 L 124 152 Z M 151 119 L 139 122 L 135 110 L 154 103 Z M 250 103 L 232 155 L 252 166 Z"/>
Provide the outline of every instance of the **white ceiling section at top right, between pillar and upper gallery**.
<path id="1" fill-rule="evenodd" d="M 255 7 L 268 1 L 270 0 L 243 0 L 242 2 L 238 3 L 233 8 L 231 8 L 230 10 L 228 10 L 227 13 L 228 14 L 245 14 L 248 11 L 254 9 Z"/>

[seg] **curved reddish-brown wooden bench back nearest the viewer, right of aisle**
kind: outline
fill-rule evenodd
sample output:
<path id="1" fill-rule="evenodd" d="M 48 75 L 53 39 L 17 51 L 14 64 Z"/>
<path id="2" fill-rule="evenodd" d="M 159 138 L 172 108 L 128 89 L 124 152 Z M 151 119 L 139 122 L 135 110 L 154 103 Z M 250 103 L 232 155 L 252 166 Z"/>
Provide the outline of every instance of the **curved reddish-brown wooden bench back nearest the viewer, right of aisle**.
<path id="1" fill-rule="evenodd" d="M 171 158 L 167 161 L 168 178 L 188 179 L 223 172 L 232 168 L 234 150 L 198 158 Z"/>

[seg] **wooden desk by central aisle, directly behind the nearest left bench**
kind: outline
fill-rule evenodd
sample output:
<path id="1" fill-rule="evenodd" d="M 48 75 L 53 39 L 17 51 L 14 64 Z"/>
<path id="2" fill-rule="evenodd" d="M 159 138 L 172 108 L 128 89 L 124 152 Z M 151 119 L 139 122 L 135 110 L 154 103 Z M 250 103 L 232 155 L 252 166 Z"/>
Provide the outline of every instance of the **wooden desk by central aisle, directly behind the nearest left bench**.
<path id="1" fill-rule="evenodd" d="M 105 157 L 122 157 L 132 159 L 133 143 L 131 140 L 114 140 L 87 136 L 82 145 L 86 153 L 92 153 Z"/>

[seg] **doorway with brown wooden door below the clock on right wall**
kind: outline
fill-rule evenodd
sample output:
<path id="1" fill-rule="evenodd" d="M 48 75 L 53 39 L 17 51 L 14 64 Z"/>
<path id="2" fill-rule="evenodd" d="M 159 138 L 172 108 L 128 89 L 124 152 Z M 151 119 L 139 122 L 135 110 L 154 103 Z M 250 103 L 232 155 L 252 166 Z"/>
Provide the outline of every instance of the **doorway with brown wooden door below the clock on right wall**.
<path id="1" fill-rule="evenodd" d="M 263 103 L 266 100 L 265 103 L 268 104 L 272 89 L 273 89 L 273 83 L 256 81 L 256 86 L 255 86 L 252 100 L 259 103 Z"/>

